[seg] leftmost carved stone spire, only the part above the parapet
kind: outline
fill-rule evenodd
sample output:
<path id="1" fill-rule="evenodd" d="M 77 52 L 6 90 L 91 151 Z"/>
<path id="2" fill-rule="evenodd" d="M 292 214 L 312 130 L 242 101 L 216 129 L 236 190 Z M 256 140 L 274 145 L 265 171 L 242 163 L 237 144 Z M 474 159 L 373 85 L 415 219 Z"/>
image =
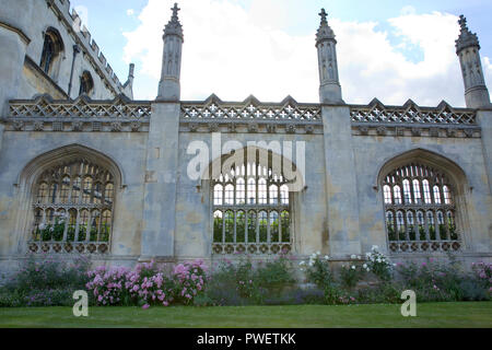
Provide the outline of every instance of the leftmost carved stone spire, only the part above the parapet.
<path id="1" fill-rule="evenodd" d="M 179 78 L 181 73 L 183 26 L 179 23 L 177 3 L 171 9 L 173 15 L 164 27 L 164 50 L 162 55 L 161 81 L 159 82 L 159 101 L 178 102 L 180 98 Z"/>

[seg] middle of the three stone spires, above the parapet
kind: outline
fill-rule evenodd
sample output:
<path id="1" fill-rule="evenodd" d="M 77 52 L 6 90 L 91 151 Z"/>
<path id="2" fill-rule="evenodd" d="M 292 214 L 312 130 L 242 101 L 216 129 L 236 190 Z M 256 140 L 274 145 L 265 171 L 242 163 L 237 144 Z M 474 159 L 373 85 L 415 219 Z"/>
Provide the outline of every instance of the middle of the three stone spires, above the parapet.
<path id="1" fill-rule="evenodd" d="M 319 100 L 321 103 L 343 103 L 341 86 L 338 78 L 337 40 L 335 33 L 328 25 L 327 13 L 321 9 L 321 23 L 316 33 L 316 48 L 318 49 L 319 68 Z"/>

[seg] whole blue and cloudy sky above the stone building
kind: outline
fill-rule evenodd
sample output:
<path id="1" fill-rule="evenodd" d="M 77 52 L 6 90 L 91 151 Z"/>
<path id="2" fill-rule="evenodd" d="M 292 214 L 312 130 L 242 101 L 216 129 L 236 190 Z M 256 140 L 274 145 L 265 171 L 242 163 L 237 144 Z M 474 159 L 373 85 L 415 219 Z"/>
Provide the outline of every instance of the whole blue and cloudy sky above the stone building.
<path id="1" fill-rule="evenodd" d="M 93 37 L 126 80 L 136 63 L 134 97 L 153 100 L 162 59 L 162 31 L 174 0 L 72 0 Z M 325 8 L 337 35 L 347 103 L 464 106 L 455 39 L 464 13 L 482 46 L 492 82 L 490 0 L 180 0 L 185 31 L 181 98 L 223 101 L 254 94 L 278 102 L 292 95 L 318 101 L 315 33 Z M 492 88 L 492 85 L 490 85 Z"/>

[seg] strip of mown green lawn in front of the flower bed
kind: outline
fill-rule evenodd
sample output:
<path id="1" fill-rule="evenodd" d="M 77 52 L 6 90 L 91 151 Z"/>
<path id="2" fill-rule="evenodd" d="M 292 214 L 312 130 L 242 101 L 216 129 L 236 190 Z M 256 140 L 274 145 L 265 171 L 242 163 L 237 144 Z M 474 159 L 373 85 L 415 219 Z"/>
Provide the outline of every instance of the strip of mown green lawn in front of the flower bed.
<path id="1" fill-rule="evenodd" d="M 421 303 L 417 317 L 400 305 L 90 307 L 74 317 L 70 307 L 0 308 L 0 327 L 492 327 L 492 302 Z"/>

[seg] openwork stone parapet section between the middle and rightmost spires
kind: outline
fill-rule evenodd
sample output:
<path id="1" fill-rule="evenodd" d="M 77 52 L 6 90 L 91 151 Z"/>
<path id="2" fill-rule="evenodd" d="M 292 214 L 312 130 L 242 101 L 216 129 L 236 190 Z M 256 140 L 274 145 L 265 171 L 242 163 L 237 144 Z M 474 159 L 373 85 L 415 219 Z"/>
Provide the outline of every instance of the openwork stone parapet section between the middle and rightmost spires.
<path id="1" fill-rule="evenodd" d="M 377 98 L 368 105 L 350 105 L 355 135 L 480 137 L 477 113 L 455 108 L 446 102 L 437 107 L 421 107 L 409 100 L 402 106 L 386 106 Z"/>

